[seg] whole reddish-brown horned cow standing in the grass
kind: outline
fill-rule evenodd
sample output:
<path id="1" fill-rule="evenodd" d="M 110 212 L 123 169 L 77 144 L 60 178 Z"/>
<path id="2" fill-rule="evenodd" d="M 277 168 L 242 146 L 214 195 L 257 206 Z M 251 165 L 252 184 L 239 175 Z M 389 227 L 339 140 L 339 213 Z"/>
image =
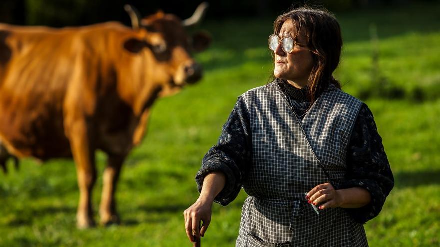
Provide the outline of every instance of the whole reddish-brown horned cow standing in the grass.
<path id="1" fill-rule="evenodd" d="M 100 222 L 119 220 L 116 182 L 144 135 L 151 105 L 201 78 L 190 51 L 203 50 L 210 38 L 190 38 L 185 26 L 196 24 L 205 9 L 203 3 L 181 21 L 163 12 L 138 19 L 126 7 L 133 28 L 118 22 L 61 29 L 0 25 L 0 141 L 20 158 L 74 158 L 79 227 L 94 225 L 96 149 L 108 155 Z"/>

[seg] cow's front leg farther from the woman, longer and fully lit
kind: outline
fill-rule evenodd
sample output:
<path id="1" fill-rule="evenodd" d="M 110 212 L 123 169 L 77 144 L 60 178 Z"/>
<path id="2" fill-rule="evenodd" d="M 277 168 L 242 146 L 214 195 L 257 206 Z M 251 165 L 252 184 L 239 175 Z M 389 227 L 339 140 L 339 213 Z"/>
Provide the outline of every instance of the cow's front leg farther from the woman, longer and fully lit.
<path id="1" fill-rule="evenodd" d="M 78 123 L 72 124 L 70 143 L 76 163 L 79 186 L 77 225 L 79 228 L 87 228 L 95 225 L 91 194 L 96 182 L 96 166 L 94 149 L 91 147 L 85 123 L 78 121 Z"/>

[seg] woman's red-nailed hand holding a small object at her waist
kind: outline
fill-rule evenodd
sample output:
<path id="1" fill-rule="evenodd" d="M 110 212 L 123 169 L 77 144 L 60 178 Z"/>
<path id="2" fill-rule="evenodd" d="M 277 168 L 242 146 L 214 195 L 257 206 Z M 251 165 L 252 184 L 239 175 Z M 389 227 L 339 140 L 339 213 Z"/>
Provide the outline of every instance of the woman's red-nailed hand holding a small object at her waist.
<path id="1" fill-rule="evenodd" d="M 331 183 L 317 185 L 307 193 L 305 198 L 308 203 L 320 205 L 319 209 L 336 208 L 342 205 L 341 195 Z"/>

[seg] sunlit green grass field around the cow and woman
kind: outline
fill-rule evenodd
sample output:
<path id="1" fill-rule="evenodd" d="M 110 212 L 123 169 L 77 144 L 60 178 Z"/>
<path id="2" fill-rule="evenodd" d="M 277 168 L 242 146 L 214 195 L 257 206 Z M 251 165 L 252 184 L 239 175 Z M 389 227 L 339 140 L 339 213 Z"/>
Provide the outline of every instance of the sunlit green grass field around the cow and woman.
<path id="1" fill-rule="evenodd" d="M 345 46 L 335 75 L 343 89 L 361 96 L 383 88 L 373 83 L 380 77 L 385 87 L 404 92 L 393 99 L 364 99 L 396 179 L 381 214 L 365 224 L 370 246 L 440 246 L 438 9 L 432 4 L 337 14 Z M 211 48 L 195 56 L 205 76 L 154 105 L 147 136 L 127 158 L 119 180 L 121 225 L 77 230 L 73 161 L 24 159 L 19 171 L 0 174 L 0 246 L 192 246 L 183 210 L 198 196 L 194 175 L 237 96 L 267 82 L 272 64 L 266 40 L 274 18 L 203 24 L 214 37 Z M 371 26 L 377 30 L 377 49 L 370 41 Z M 375 75 L 374 50 L 379 54 Z M 102 171 L 105 156 L 98 153 L 97 161 Z M 99 177 L 93 194 L 96 212 L 101 185 Z M 203 246 L 234 245 L 245 197 L 242 191 L 230 205 L 214 205 Z"/>

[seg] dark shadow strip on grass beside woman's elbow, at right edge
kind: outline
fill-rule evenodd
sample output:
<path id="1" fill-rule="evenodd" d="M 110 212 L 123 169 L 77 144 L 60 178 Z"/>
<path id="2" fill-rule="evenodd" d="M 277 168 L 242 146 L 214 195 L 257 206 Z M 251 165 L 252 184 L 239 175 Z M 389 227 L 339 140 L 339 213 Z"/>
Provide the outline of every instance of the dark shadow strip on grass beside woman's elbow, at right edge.
<path id="1" fill-rule="evenodd" d="M 440 184 L 440 170 L 397 172 L 394 178 L 395 186 L 399 188 Z"/>

